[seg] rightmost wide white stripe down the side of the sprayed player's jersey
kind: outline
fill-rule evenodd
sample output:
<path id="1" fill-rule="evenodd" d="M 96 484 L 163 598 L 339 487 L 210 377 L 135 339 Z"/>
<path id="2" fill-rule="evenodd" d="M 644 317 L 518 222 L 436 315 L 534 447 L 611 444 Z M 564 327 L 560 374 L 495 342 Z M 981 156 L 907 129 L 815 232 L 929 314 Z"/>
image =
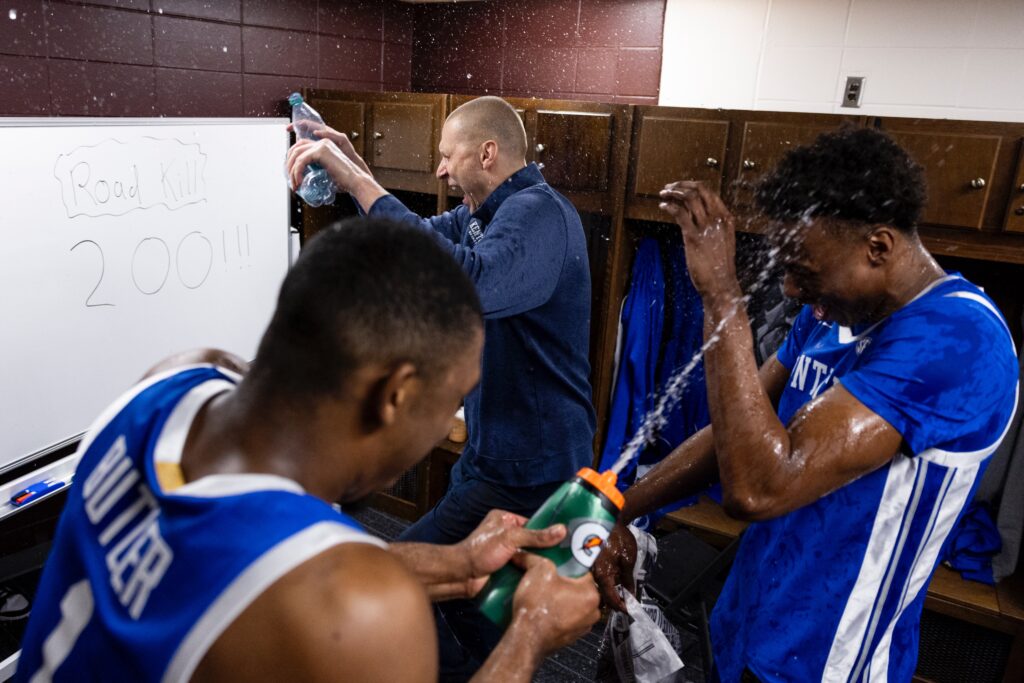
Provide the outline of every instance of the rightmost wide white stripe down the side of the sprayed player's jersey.
<path id="1" fill-rule="evenodd" d="M 975 465 L 972 467 L 950 468 L 949 472 L 947 472 L 943 483 L 945 484 L 947 480 L 950 483 L 938 502 L 938 514 L 933 514 L 934 528 L 925 537 L 925 543 L 907 578 L 904 599 L 900 601 L 899 609 L 897 609 L 892 621 L 889 623 L 889 628 L 886 630 L 886 634 L 879 642 L 879 647 L 876 650 L 876 660 L 871 663 L 872 680 L 877 677 L 878 680 L 886 680 L 889 671 L 889 654 L 892 648 L 893 631 L 899 623 L 900 617 L 902 617 L 903 612 L 906 611 L 907 605 L 916 600 L 921 592 L 925 590 L 925 586 L 932 575 L 932 569 L 938 561 L 942 545 L 945 543 L 946 538 L 952 530 L 953 524 L 968 503 L 968 496 L 974 486 L 979 469 L 979 466 Z"/>

